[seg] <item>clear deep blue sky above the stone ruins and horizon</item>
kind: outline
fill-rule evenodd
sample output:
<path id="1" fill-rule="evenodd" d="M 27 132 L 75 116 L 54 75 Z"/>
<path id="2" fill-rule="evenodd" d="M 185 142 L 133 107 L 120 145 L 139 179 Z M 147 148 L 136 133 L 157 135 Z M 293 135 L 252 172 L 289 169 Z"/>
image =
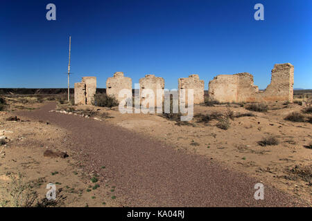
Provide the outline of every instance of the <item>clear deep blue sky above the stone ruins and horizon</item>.
<path id="1" fill-rule="evenodd" d="M 207 89 L 216 75 L 248 72 L 266 88 L 274 64 L 289 62 L 294 87 L 312 88 L 311 0 L 1 0 L 0 87 L 66 88 L 69 35 L 71 87 L 96 76 L 105 88 L 122 71 L 133 83 L 164 77 L 169 89 L 192 73 Z"/>

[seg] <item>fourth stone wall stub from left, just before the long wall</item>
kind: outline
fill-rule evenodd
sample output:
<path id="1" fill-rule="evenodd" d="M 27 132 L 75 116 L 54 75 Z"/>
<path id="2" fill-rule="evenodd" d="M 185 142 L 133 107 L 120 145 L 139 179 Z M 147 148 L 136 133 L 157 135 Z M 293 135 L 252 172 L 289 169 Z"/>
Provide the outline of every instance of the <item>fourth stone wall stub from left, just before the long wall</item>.
<path id="1" fill-rule="evenodd" d="M 193 103 L 204 103 L 205 82 L 198 75 L 189 75 L 187 78 L 178 79 L 179 97 L 181 89 L 185 89 L 185 103 L 188 101 L 188 89 L 193 89 Z"/>

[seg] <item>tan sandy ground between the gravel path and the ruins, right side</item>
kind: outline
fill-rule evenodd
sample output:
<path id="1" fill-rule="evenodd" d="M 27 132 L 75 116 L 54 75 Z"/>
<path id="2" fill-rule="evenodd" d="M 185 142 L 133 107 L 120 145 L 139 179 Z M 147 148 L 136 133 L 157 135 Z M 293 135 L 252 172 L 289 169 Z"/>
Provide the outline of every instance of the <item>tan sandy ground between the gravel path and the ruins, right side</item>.
<path id="1" fill-rule="evenodd" d="M 277 110 L 268 113 L 252 112 L 255 117 L 239 117 L 230 120 L 227 131 L 216 127 L 216 121 L 209 124 L 198 123 L 194 118 L 190 126 L 177 126 L 175 122 L 152 114 L 121 114 L 107 108 L 77 106 L 76 109 L 93 109 L 98 113 L 107 113 L 112 118 L 105 122 L 122 126 L 131 131 L 155 137 L 158 140 L 173 144 L 191 153 L 214 158 L 225 166 L 261 178 L 263 183 L 311 202 L 311 162 L 312 152 L 306 148 L 312 142 L 312 125 L 302 122 L 289 122 L 284 117 L 293 111 L 301 111 L 297 104 L 274 105 Z M 195 106 L 197 113 L 249 113 L 238 105 Z M 257 142 L 273 135 L 279 140 L 277 146 L 260 146 Z M 304 179 L 291 170 L 308 169 L 310 176 Z"/>

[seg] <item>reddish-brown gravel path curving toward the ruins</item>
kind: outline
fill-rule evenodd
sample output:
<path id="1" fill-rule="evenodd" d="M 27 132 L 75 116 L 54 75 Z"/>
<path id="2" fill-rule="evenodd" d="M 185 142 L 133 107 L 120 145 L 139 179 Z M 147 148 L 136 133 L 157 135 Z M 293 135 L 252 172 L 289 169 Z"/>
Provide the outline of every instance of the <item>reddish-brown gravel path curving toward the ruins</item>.
<path id="1" fill-rule="evenodd" d="M 116 186 L 116 200 L 123 206 L 308 206 L 266 185 L 264 200 L 254 200 L 254 184 L 260 180 L 118 126 L 50 113 L 53 108 L 47 104 L 19 115 L 70 131 L 68 148 L 78 153 L 86 170 L 101 175 L 101 184 L 106 180 Z"/>

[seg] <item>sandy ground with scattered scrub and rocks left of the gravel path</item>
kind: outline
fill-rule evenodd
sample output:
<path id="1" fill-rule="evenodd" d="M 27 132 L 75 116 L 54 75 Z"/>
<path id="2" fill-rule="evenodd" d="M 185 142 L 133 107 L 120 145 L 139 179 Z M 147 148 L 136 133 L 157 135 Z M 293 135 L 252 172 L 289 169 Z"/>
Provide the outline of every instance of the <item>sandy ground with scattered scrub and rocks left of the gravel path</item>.
<path id="1" fill-rule="evenodd" d="M 42 104 L 17 106 L 19 110 L 33 110 Z M 91 181 L 97 175 L 84 173 L 83 165 L 73 160 L 77 153 L 67 148 L 67 131 L 49 122 L 25 118 L 19 122 L 6 121 L 12 115 L 12 111 L 0 112 L 0 136 L 5 136 L 7 142 L 0 146 L 0 206 L 24 206 L 21 200 L 12 204 L 15 200 L 10 194 L 25 198 L 29 191 L 37 192 L 37 196 L 29 195 L 35 197 L 33 206 L 37 202 L 40 206 L 119 206 L 112 200 L 112 186 L 97 186 L 97 182 Z M 66 151 L 69 157 L 44 157 L 46 149 Z M 13 184 L 12 177 L 17 184 Z M 49 183 L 56 186 L 56 203 L 44 200 Z"/>

